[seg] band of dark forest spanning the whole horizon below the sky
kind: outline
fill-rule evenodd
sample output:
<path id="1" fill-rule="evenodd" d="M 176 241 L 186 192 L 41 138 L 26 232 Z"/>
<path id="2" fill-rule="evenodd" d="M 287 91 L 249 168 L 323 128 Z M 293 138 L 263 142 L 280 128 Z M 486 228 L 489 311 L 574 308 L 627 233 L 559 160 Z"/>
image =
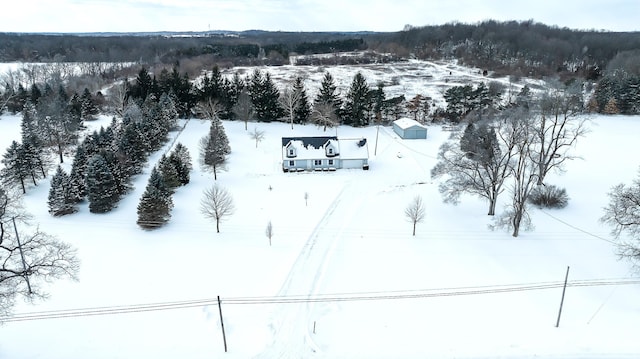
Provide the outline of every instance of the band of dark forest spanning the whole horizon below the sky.
<path id="1" fill-rule="evenodd" d="M 464 64 L 519 76 L 597 79 L 621 52 L 640 49 L 640 33 L 572 30 L 533 21 L 484 21 L 399 32 L 204 32 L 152 34 L 0 34 L 0 61 L 282 65 L 290 55 L 370 50 Z"/>

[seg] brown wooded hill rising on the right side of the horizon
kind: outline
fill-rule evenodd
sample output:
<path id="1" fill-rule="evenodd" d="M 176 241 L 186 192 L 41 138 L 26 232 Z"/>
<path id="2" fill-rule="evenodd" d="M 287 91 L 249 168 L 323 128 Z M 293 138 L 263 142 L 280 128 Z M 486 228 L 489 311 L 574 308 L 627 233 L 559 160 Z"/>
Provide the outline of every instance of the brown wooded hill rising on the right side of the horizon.
<path id="1" fill-rule="evenodd" d="M 572 30 L 534 21 L 483 21 L 411 27 L 365 37 L 370 48 L 520 76 L 597 79 L 618 52 L 640 48 L 637 32 Z"/>

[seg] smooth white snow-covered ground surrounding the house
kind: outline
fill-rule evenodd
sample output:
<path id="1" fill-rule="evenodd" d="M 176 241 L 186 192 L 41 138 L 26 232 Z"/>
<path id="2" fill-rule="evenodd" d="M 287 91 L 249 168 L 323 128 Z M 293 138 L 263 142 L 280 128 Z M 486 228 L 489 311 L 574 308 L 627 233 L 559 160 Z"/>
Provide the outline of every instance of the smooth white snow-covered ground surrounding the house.
<path id="1" fill-rule="evenodd" d="M 19 123 L 0 118 L 0 149 L 19 139 Z M 593 117 L 575 149 L 582 159 L 549 178 L 567 188 L 569 206 L 532 209 L 536 228 L 519 238 L 488 229 L 488 205 L 479 199 L 442 203 L 429 175 L 449 135 L 438 126 L 427 140 L 401 140 L 383 127 L 377 147 L 375 127 L 224 126 L 232 154 L 218 183 L 236 211 L 219 234 L 199 211 L 214 183 L 197 161 L 208 131 L 200 120 L 179 134 L 194 171 L 161 229 L 135 223 L 150 168 L 109 214 L 84 205 L 53 218 L 48 183 L 29 189 L 24 202 L 40 228 L 78 249 L 80 280 L 51 284 L 47 301 L 20 302 L 16 316 L 64 318 L 0 325 L 0 358 L 640 357 L 640 287 L 625 284 L 637 273 L 617 259 L 598 221 L 610 187 L 637 176 L 640 117 Z M 266 134 L 257 148 L 248 134 L 254 126 Z M 282 172 L 281 137 L 336 133 L 368 139 L 369 171 Z M 404 209 L 415 195 L 427 217 L 413 237 Z"/>

